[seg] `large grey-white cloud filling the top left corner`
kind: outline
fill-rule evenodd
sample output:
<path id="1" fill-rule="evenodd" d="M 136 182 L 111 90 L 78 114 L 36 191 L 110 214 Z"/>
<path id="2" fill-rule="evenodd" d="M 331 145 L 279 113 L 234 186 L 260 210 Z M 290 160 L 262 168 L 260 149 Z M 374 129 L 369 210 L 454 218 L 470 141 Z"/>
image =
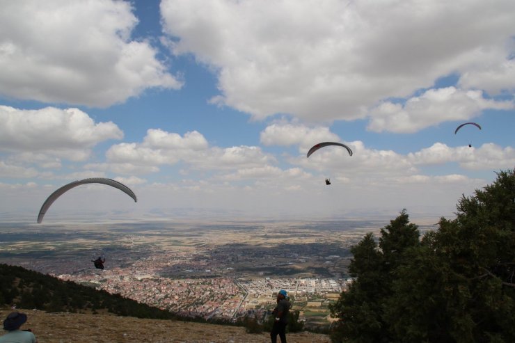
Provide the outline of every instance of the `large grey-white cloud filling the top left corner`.
<path id="1" fill-rule="evenodd" d="M 181 81 L 146 40 L 126 1 L 1 1 L 0 94 L 110 106 Z"/>

